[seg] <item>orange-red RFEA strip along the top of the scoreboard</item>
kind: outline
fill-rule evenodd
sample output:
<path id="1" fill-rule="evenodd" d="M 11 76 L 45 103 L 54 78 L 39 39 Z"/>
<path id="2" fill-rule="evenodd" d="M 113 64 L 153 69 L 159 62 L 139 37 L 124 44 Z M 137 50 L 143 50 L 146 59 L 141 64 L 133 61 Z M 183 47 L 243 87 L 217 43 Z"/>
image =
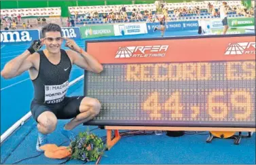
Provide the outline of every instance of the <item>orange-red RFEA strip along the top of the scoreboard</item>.
<path id="1" fill-rule="evenodd" d="M 255 60 L 255 36 L 88 43 L 101 63 Z"/>

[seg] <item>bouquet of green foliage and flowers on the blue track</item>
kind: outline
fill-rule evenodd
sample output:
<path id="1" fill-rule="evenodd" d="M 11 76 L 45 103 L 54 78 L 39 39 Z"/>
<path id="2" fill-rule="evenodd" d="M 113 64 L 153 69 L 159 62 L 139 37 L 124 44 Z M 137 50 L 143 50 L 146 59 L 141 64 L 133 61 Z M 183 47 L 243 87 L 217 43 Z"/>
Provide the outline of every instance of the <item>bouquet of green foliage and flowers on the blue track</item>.
<path id="1" fill-rule="evenodd" d="M 86 162 L 96 161 L 105 150 L 103 141 L 95 134 L 80 132 L 77 139 L 70 143 L 71 159 Z"/>

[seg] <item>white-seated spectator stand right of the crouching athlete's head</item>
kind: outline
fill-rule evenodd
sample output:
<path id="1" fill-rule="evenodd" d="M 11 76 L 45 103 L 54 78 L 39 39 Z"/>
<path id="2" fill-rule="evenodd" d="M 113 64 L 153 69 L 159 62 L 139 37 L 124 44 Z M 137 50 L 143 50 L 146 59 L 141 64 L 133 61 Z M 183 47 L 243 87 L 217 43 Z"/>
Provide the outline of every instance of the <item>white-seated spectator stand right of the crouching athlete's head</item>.
<path id="1" fill-rule="evenodd" d="M 243 16 L 241 1 L 229 1 L 229 17 Z M 211 7 L 214 7 L 211 9 Z M 167 20 L 198 20 L 219 18 L 219 7 L 221 1 L 201 1 L 191 3 L 164 3 L 164 9 L 168 13 Z M 122 7 L 126 12 L 122 12 Z M 236 9 L 236 10 L 234 10 Z M 213 12 L 212 12 L 213 11 Z M 69 7 L 71 19 L 79 24 L 103 24 L 115 22 L 156 22 L 156 5 L 132 4 L 132 5 L 98 5 Z M 132 14 L 134 13 L 134 16 Z M 127 19 L 125 19 L 127 16 Z"/>

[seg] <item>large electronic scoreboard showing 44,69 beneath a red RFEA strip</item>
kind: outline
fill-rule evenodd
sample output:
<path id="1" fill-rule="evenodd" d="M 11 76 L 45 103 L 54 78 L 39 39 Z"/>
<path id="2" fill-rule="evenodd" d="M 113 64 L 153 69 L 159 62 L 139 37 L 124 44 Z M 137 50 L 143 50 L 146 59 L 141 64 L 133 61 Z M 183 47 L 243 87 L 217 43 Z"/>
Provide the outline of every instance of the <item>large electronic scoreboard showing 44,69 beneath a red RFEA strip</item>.
<path id="1" fill-rule="evenodd" d="M 87 124 L 255 128 L 255 36 L 86 41 L 101 73 L 84 94 L 102 107 Z"/>

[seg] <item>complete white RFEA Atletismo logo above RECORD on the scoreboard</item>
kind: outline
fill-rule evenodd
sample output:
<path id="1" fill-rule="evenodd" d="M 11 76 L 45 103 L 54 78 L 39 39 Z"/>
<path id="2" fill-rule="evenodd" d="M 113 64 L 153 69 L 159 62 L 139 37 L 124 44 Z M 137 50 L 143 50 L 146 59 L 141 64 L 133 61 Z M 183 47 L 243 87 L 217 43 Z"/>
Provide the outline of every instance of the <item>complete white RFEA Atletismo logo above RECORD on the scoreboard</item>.
<path id="1" fill-rule="evenodd" d="M 126 46 L 117 50 L 115 58 L 163 57 L 169 45 Z"/>

